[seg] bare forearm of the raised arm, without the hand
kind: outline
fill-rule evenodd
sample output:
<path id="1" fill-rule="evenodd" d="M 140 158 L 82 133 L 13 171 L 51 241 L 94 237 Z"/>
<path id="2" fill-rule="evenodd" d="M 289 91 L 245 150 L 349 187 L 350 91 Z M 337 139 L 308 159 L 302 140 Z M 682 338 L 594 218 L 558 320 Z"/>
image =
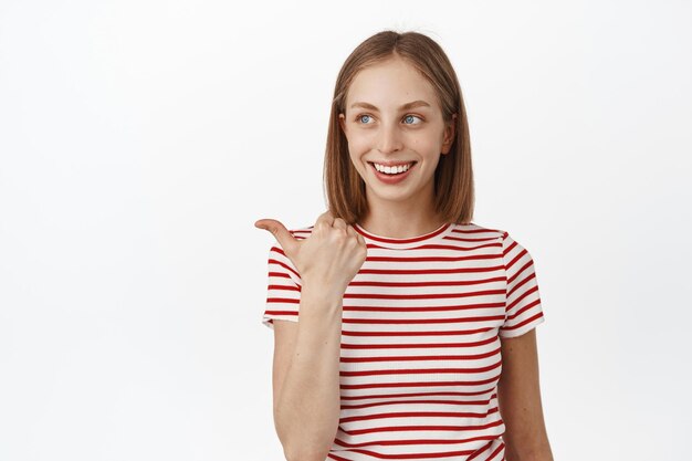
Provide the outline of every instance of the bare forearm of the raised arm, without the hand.
<path id="1" fill-rule="evenodd" d="M 298 322 L 274 321 L 274 426 L 289 461 L 324 461 L 336 437 L 342 302 L 304 285 Z"/>

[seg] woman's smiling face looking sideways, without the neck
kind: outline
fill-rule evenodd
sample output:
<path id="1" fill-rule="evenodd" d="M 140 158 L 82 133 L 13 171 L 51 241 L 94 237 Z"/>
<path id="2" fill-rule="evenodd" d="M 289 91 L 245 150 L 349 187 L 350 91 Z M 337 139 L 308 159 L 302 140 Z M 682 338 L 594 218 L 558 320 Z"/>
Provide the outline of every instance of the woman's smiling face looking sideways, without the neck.
<path id="1" fill-rule="evenodd" d="M 434 169 L 454 140 L 453 121 L 442 119 L 432 85 L 411 64 L 394 57 L 356 75 L 345 107 L 339 124 L 368 202 L 432 203 Z M 378 172 L 376 164 L 409 169 L 391 176 Z"/>

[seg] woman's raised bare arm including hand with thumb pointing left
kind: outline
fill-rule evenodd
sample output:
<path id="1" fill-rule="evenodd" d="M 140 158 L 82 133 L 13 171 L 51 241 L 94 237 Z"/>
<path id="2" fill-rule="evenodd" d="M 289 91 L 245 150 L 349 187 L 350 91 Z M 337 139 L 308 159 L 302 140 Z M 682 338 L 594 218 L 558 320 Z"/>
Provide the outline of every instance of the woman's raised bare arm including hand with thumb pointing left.
<path id="1" fill-rule="evenodd" d="M 296 240 L 280 221 L 262 219 L 301 276 L 298 322 L 274 319 L 274 426 L 289 461 L 324 461 L 338 429 L 344 293 L 367 259 L 352 226 L 326 211 Z"/>

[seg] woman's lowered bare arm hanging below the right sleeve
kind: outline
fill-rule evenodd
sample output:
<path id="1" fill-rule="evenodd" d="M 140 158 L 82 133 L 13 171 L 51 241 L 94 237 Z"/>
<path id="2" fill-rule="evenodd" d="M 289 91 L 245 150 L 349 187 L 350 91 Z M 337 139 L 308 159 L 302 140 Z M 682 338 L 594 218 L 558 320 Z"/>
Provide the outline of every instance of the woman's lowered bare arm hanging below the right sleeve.
<path id="1" fill-rule="evenodd" d="M 505 423 L 506 460 L 553 461 L 541 404 L 536 328 L 500 340 L 502 374 L 497 400 Z"/>

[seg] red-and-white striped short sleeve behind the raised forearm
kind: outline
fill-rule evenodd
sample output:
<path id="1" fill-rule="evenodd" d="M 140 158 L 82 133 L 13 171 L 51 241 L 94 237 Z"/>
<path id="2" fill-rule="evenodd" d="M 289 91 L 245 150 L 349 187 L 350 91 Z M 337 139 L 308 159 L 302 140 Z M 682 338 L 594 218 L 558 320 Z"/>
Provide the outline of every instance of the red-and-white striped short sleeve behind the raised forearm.
<path id="1" fill-rule="evenodd" d="M 276 241 L 269 251 L 266 305 L 262 324 L 274 329 L 273 321 L 298 321 L 301 276 Z"/>

